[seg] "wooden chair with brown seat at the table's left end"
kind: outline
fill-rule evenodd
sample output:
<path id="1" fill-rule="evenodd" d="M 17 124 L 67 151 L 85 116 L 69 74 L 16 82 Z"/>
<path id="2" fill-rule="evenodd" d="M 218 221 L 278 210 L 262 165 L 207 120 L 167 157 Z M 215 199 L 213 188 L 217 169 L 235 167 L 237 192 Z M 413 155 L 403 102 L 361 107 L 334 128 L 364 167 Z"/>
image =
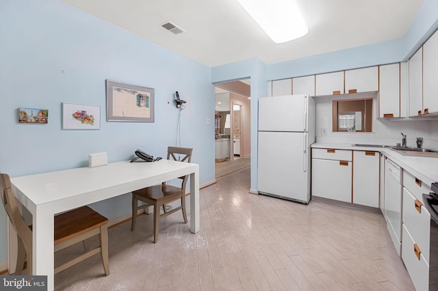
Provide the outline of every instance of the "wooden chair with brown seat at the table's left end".
<path id="1" fill-rule="evenodd" d="M 21 275 L 23 272 L 23 267 L 25 266 L 25 258 L 27 257 L 27 273 L 32 274 L 32 230 L 31 225 L 28 226 L 20 212 L 18 211 L 18 206 L 14 194 L 11 189 L 10 178 L 7 174 L 0 174 L 0 193 L 1 201 L 3 206 L 5 206 L 6 213 L 14 230 L 17 233 L 18 240 L 18 251 L 15 275 Z M 105 275 L 110 274 L 110 267 L 108 264 L 108 233 L 107 233 L 107 223 L 108 219 L 103 217 L 98 212 L 92 210 L 88 206 L 83 206 L 62 214 L 56 215 L 54 218 L 54 247 L 55 252 L 70 247 L 75 243 L 83 241 L 85 247 L 85 241 L 87 238 L 99 234 L 100 236 L 100 246 L 86 251 L 79 257 L 62 264 L 61 266 L 55 267 L 55 273 L 59 273 L 64 269 L 77 264 L 90 258 L 96 253 L 101 253 L 103 268 L 105 270 Z M 51 243 L 48 240 L 47 243 Z"/>

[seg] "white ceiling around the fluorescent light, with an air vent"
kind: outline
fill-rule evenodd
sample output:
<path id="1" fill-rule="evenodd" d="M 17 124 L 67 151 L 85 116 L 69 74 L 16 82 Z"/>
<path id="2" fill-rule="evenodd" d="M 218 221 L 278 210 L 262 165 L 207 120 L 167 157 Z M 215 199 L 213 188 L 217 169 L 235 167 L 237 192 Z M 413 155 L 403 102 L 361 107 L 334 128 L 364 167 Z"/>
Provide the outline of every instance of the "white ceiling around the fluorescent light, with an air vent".
<path id="1" fill-rule="evenodd" d="M 62 0 L 181 55 L 214 67 L 265 64 L 402 38 L 424 0 L 297 0 L 309 33 L 275 44 L 236 0 Z M 167 21 L 186 32 L 175 35 Z"/>

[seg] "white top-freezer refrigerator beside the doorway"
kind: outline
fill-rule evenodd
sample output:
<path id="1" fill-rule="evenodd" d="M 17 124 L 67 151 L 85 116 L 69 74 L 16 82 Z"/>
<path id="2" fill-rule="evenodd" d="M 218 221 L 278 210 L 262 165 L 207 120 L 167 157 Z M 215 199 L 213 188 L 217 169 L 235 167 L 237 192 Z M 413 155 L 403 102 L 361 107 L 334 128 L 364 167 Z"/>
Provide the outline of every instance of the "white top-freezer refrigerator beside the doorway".
<path id="1" fill-rule="evenodd" d="M 259 194 L 309 203 L 315 100 L 307 94 L 259 98 Z"/>

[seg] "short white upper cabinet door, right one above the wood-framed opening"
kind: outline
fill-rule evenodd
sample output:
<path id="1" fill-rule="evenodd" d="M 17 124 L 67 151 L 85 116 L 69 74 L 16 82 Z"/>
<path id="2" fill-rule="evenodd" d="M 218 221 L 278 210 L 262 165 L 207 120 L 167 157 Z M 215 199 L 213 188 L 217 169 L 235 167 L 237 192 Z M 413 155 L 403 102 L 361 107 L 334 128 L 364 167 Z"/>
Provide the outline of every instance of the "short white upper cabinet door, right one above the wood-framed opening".
<path id="1" fill-rule="evenodd" d="M 345 71 L 345 93 L 378 90 L 378 67 Z"/>

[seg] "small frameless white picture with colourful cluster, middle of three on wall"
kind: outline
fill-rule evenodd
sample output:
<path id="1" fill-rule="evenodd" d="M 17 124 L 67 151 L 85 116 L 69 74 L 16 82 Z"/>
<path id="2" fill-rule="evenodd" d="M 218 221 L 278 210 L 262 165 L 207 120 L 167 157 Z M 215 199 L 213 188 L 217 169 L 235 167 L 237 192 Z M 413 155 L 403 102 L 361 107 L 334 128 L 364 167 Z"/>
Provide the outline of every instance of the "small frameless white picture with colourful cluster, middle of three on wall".
<path id="1" fill-rule="evenodd" d="M 101 129 L 101 107 L 62 103 L 62 129 Z"/>

